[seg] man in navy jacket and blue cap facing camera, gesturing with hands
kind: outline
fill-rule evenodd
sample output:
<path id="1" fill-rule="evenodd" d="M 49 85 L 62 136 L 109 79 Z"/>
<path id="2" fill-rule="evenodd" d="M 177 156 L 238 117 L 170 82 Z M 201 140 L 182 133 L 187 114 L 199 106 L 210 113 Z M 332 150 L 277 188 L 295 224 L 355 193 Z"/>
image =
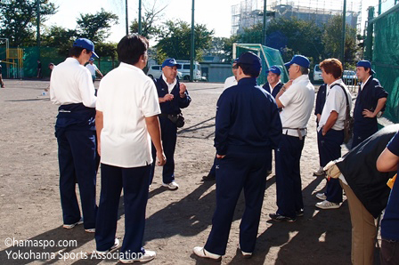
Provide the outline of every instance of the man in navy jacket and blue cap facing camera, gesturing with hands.
<path id="1" fill-rule="evenodd" d="M 179 82 L 177 76 L 177 62 L 174 58 L 169 58 L 162 63 L 162 76 L 154 80 L 157 86 L 159 106 L 160 129 L 162 133 L 162 146 L 167 157 L 167 163 L 162 171 L 162 186 L 168 189 L 178 189 L 179 185 L 175 182 L 175 146 L 177 140 L 177 126 L 169 117 L 176 116 L 182 112 L 181 108 L 190 105 L 191 97 L 186 85 Z M 155 148 L 152 146 L 152 157 L 155 158 Z M 152 164 L 151 180 L 154 177 L 154 167 Z"/>

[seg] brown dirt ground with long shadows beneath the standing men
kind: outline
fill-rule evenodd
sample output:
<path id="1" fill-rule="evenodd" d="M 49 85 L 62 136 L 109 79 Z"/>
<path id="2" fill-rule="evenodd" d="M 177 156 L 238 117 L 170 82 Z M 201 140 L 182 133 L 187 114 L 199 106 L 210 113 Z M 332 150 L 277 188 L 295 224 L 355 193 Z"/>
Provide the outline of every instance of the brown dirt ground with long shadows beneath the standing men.
<path id="1" fill-rule="evenodd" d="M 112 258 L 98 260 L 86 256 L 95 244 L 94 235 L 85 233 L 83 226 L 70 230 L 61 227 L 57 143 L 53 134 L 57 107 L 48 95 L 42 95 L 48 81 L 4 83 L 6 88 L 0 89 L 0 264 L 117 263 Z M 192 102 L 183 110 L 186 124 L 178 132 L 175 152 L 175 177 L 180 189 L 162 188 L 158 168 L 147 205 L 143 245 L 157 252 L 152 264 L 214 264 L 195 257 L 192 248 L 205 244 L 216 206 L 215 182 L 203 182 L 201 177 L 208 173 L 215 156 L 216 100 L 223 84 L 187 86 Z M 240 216 L 244 211 L 241 197 L 222 264 L 350 264 L 351 224 L 346 201 L 338 210 L 319 211 L 314 207 L 318 202 L 315 193 L 325 186 L 321 177 L 312 174 L 318 167 L 314 116 L 308 128 L 301 160 L 305 216 L 294 223 L 270 221 L 268 213 L 276 211 L 272 173 L 267 178 L 252 259 L 244 260 L 237 251 Z M 99 196 L 100 173 L 97 183 Z M 124 220 L 121 204 L 119 238 L 124 236 Z M 6 245 L 10 243 L 7 238 L 14 244 Z M 77 240 L 77 245 L 17 245 L 26 239 L 36 243 Z"/>

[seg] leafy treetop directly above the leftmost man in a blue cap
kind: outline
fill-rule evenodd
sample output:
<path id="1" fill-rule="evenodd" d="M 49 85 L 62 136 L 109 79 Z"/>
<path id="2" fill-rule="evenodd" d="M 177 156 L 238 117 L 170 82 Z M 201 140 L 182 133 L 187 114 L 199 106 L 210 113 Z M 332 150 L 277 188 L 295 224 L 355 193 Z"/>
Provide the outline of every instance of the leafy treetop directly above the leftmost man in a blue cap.
<path id="1" fill-rule="evenodd" d="M 95 14 L 80 14 L 77 19 L 77 33 L 95 42 L 103 42 L 110 36 L 112 25 L 118 24 L 118 16 L 112 12 L 106 12 L 103 8 Z"/>

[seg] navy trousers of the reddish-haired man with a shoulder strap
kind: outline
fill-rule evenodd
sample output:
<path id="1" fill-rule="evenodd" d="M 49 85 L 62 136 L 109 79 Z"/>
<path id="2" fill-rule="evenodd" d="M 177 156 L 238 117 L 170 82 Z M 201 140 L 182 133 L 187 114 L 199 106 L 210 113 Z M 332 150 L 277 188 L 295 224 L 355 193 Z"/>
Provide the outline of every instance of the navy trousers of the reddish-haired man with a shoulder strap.
<path id="1" fill-rule="evenodd" d="M 326 135 L 322 135 L 322 130 L 317 133 L 317 144 L 319 146 L 319 156 L 321 165 L 325 166 L 330 161 L 341 157 L 341 144 L 344 142 L 344 130 L 336 131 L 330 129 Z M 338 179 L 327 181 L 326 189 L 327 200 L 332 203 L 342 203 L 342 187 Z"/>

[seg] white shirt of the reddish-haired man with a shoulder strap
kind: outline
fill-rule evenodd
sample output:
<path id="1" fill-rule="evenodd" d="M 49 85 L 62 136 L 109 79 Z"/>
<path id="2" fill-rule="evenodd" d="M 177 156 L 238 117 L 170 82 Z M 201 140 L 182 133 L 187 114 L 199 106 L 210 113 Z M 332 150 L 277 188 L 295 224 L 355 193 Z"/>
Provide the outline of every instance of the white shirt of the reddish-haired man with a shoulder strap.
<path id="1" fill-rule="evenodd" d="M 320 117 L 317 132 L 320 132 L 320 130 L 322 130 L 322 126 L 327 123 L 327 120 L 329 119 L 332 111 L 338 112 L 338 119 L 331 127 L 331 129 L 337 131 L 344 130 L 344 122 L 346 118 L 346 96 L 342 88 L 339 85 L 334 84 L 341 84 L 345 87 L 345 91 L 348 97 L 347 99 L 349 100 L 349 107 L 352 108 L 352 96 L 347 90 L 347 87 L 342 79 L 339 78 L 331 84 L 327 84 L 326 103 L 324 104 L 324 108 L 322 108 L 322 116 Z"/>

